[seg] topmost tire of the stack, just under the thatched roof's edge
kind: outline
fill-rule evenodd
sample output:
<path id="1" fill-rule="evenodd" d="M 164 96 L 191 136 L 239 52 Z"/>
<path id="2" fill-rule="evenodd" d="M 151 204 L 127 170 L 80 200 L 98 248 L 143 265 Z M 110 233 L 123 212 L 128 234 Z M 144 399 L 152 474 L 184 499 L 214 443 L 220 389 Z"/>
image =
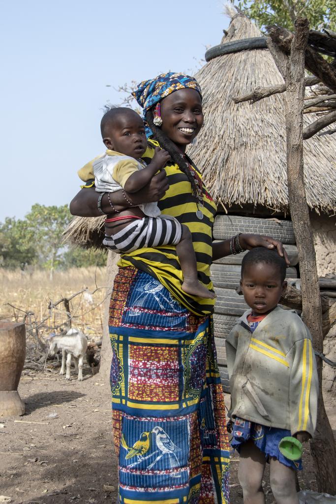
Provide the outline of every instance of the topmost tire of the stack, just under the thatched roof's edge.
<path id="1" fill-rule="evenodd" d="M 237 233 L 264 234 L 276 238 L 282 243 L 295 243 L 291 221 L 273 221 L 255 217 L 236 215 L 218 215 L 213 227 L 215 240 L 226 240 Z"/>

